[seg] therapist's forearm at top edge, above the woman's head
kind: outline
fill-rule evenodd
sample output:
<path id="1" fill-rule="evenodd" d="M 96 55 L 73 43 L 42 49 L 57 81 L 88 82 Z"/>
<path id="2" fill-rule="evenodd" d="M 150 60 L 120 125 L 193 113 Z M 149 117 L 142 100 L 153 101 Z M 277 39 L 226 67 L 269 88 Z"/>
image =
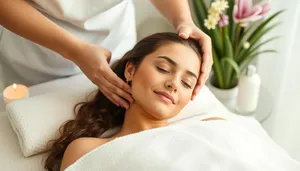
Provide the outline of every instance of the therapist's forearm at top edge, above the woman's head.
<path id="1" fill-rule="evenodd" d="M 183 23 L 193 23 L 188 0 L 151 0 L 151 2 L 176 29 Z"/>

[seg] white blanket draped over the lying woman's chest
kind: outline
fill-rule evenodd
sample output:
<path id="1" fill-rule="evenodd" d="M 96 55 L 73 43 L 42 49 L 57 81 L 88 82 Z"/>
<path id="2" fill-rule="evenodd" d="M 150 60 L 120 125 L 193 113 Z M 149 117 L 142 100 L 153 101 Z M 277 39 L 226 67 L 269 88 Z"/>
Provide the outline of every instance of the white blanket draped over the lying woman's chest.
<path id="1" fill-rule="evenodd" d="M 193 121 L 120 137 L 66 171 L 299 171 L 268 137 L 232 121 Z"/>

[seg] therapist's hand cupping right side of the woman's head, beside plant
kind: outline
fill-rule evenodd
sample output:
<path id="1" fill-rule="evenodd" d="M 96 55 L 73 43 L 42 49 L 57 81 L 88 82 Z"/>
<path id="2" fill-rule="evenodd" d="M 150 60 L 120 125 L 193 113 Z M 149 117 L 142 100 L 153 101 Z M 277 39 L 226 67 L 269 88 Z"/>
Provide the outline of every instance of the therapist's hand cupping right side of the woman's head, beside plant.
<path id="1" fill-rule="evenodd" d="M 197 93 L 208 79 L 213 64 L 211 39 L 208 35 L 201 31 L 194 23 L 183 23 L 178 25 L 177 32 L 178 35 L 184 39 L 188 39 L 190 37 L 195 40 L 198 40 L 202 49 L 203 54 L 201 74 L 192 95 L 192 100 L 194 100 Z"/>

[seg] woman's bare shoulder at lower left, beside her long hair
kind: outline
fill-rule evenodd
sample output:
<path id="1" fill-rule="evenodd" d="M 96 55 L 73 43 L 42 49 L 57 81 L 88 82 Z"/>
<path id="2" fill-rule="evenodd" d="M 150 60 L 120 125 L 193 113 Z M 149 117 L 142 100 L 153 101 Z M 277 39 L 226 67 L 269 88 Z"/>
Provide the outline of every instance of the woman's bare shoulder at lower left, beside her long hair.
<path id="1" fill-rule="evenodd" d="M 76 160 L 82 157 L 84 154 L 92 151 L 93 149 L 99 147 L 102 144 L 108 142 L 108 139 L 101 139 L 101 138 L 78 138 L 72 141 L 63 156 L 60 170 L 63 171 L 68 166 L 73 164 Z"/>

